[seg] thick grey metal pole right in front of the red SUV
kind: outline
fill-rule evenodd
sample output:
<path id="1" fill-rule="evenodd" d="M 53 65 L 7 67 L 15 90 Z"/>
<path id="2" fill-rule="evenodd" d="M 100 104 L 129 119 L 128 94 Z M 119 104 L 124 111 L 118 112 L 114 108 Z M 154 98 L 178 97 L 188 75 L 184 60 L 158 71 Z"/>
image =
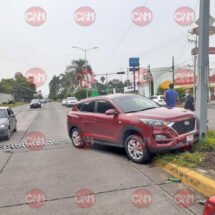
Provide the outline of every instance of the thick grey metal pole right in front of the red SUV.
<path id="1" fill-rule="evenodd" d="M 210 0 L 200 0 L 199 11 L 199 52 L 196 113 L 199 122 L 199 137 L 201 140 L 204 138 L 207 131 Z"/>

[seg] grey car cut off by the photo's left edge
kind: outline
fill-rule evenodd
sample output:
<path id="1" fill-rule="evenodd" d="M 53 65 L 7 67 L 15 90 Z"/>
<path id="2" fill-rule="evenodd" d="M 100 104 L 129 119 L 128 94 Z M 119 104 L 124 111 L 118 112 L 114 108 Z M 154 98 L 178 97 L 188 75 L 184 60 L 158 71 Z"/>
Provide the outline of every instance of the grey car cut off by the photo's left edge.
<path id="1" fill-rule="evenodd" d="M 0 137 L 10 139 L 11 132 L 17 131 L 17 119 L 11 108 L 0 107 Z"/>

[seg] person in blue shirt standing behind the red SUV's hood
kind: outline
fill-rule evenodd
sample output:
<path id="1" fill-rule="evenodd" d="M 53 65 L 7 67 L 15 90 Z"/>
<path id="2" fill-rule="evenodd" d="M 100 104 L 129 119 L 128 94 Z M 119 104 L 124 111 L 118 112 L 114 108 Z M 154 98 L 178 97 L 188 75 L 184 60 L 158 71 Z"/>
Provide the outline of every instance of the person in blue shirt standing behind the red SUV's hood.
<path id="1" fill-rule="evenodd" d="M 173 84 L 170 84 L 169 89 L 164 92 L 164 100 L 166 101 L 167 108 L 175 107 L 176 102 L 179 101 L 178 93 L 174 90 Z"/>

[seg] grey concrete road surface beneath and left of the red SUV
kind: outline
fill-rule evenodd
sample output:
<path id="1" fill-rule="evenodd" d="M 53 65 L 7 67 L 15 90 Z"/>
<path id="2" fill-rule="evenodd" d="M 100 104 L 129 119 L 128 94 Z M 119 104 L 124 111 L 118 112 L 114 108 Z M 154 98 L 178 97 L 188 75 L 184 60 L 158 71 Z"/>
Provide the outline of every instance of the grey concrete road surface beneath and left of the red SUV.
<path id="1" fill-rule="evenodd" d="M 134 164 L 112 147 L 75 149 L 68 110 L 54 102 L 14 109 L 18 131 L 0 140 L 0 214 L 202 214 L 204 197 L 152 164 Z M 43 145 L 32 148 L 35 134 Z"/>

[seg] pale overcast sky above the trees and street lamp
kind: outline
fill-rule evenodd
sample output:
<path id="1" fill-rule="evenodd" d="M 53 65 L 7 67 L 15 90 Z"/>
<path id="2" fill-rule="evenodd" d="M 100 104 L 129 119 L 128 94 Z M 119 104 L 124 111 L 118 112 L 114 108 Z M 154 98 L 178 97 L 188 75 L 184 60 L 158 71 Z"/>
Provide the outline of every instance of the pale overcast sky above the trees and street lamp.
<path id="1" fill-rule="evenodd" d="M 212 8 L 215 1 L 215 17 Z M 53 75 L 84 58 L 72 46 L 99 47 L 87 52 L 95 74 L 125 70 L 129 57 L 143 67 L 170 66 L 172 56 L 192 64 L 187 39 L 198 16 L 199 0 L 0 0 L 0 79 L 39 68 L 47 78 L 38 89 L 47 94 Z"/>

